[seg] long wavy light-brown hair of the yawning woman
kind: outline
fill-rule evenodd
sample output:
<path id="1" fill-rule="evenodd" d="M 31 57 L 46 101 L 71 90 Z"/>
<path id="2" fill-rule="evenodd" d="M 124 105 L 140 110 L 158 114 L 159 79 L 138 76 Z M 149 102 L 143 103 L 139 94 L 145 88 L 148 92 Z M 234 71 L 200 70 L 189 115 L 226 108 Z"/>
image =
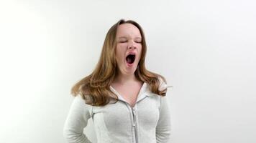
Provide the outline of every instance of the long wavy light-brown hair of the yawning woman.
<path id="1" fill-rule="evenodd" d="M 96 68 L 91 74 L 81 79 L 72 87 L 71 94 L 73 94 L 73 96 L 76 97 L 78 94 L 81 94 L 86 101 L 86 104 L 91 104 L 93 106 L 104 106 L 109 104 L 110 99 L 114 99 L 115 103 L 118 101 L 116 94 L 110 90 L 111 83 L 114 81 L 118 71 L 115 59 L 116 31 L 120 24 L 127 23 L 136 26 L 140 30 L 142 36 L 142 54 L 137 69 L 134 72 L 135 77 L 141 82 L 149 84 L 152 93 L 159 96 L 165 96 L 167 89 L 164 89 L 163 91 L 159 90 L 160 78 L 166 83 L 165 78 L 160 74 L 155 74 L 145 68 L 147 46 L 142 27 L 135 21 L 125 21 L 124 19 L 119 20 L 116 24 L 111 26 L 107 32 Z"/>

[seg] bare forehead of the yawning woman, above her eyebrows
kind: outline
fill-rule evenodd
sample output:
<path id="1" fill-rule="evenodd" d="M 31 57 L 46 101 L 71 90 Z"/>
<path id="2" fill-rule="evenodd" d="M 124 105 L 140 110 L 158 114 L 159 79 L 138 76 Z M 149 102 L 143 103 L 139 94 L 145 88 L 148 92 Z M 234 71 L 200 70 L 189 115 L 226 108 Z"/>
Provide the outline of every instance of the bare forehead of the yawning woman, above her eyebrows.
<path id="1" fill-rule="evenodd" d="M 128 37 L 141 37 L 140 29 L 133 24 L 121 24 L 117 27 L 116 37 L 128 36 Z"/>

